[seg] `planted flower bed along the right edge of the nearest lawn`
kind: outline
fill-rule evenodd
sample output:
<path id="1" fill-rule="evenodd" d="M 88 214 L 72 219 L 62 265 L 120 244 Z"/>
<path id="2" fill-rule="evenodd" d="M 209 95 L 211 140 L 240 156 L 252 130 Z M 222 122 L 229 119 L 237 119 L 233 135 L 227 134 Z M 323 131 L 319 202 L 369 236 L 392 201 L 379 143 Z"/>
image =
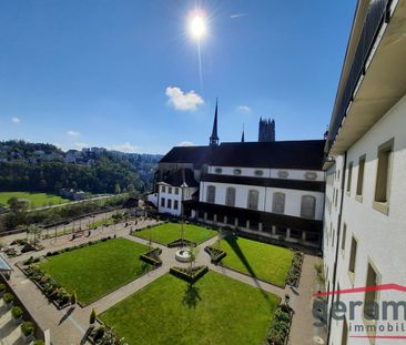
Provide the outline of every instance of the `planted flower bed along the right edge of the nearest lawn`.
<path id="1" fill-rule="evenodd" d="M 267 334 L 267 344 L 270 345 L 285 345 L 287 344 L 288 334 L 292 325 L 293 310 L 286 305 L 281 304 L 274 314 L 271 323 L 271 328 Z"/>

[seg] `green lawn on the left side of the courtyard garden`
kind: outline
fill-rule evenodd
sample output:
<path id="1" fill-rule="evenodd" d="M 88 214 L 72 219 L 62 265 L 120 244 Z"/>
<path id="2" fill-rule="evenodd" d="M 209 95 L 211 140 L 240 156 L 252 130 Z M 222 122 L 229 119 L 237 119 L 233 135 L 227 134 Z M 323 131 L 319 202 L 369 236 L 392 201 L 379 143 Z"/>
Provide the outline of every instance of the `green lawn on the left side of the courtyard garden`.
<path id="1" fill-rule="evenodd" d="M 142 244 L 116 239 L 50 256 L 41 268 L 89 304 L 149 270 L 151 266 L 139 258 L 146 252 Z"/>

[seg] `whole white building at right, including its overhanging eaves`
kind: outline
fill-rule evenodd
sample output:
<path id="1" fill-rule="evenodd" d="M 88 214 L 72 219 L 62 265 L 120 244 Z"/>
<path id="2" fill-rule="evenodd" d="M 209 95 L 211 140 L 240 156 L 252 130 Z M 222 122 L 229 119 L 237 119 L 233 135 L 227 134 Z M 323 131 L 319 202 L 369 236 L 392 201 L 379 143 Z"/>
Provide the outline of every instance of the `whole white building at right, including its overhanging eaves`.
<path id="1" fill-rule="evenodd" d="M 405 1 L 359 1 L 354 18 L 325 149 L 326 290 L 347 291 L 328 295 L 329 345 L 406 342 L 405 19 Z M 338 303 L 358 306 L 337 319 Z"/>

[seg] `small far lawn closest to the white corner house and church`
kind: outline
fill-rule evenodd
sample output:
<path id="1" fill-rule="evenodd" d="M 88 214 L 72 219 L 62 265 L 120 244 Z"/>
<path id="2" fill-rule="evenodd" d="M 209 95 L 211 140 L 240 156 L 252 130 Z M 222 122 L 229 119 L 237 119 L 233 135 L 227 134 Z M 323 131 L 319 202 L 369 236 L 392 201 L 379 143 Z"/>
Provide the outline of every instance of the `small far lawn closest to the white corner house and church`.
<path id="1" fill-rule="evenodd" d="M 134 233 L 134 236 L 150 240 L 153 242 L 166 245 L 168 243 L 181 237 L 180 223 L 165 223 L 150 229 L 144 229 Z M 203 226 L 185 224 L 184 225 L 184 239 L 196 243 L 202 243 L 211 237 L 217 235 L 217 232 Z"/>

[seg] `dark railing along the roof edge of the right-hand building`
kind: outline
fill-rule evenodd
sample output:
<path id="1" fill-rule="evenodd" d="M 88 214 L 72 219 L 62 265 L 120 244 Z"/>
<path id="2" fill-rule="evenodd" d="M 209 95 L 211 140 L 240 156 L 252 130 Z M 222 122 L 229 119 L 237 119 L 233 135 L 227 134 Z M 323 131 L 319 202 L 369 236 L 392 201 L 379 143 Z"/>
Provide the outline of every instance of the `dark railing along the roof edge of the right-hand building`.
<path id="1" fill-rule="evenodd" d="M 334 139 L 338 133 L 347 108 L 353 101 L 353 94 L 357 82 L 365 73 L 365 63 L 376 40 L 382 24 L 385 22 L 390 0 L 372 0 L 364 22 L 363 31 L 359 37 L 357 50 L 354 54 L 353 63 L 348 73 L 347 82 L 338 104 L 336 118 L 332 132 L 328 133 L 328 149 L 333 145 Z"/>

